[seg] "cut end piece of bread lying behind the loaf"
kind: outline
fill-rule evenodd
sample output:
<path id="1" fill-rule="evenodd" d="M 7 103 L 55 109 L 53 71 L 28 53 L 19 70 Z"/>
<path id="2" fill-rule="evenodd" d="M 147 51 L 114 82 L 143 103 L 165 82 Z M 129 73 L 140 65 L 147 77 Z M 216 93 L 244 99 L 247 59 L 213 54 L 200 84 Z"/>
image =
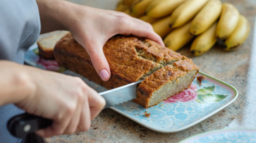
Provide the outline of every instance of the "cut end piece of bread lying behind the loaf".
<path id="1" fill-rule="evenodd" d="M 37 43 L 40 57 L 45 59 L 54 59 L 53 48 L 56 43 L 67 33 L 68 31 L 63 31 L 38 40 Z"/>

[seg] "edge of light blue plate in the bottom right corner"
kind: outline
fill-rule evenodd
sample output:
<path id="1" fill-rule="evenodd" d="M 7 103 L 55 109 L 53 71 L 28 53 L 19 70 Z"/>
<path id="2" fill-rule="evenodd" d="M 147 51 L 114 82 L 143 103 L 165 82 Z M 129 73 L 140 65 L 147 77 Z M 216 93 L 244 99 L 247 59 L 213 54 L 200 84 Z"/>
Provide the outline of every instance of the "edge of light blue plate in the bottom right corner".
<path id="1" fill-rule="evenodd" d="M 179 143 L 256 143 L 256 129 L 220 129 L 203 132 Z"/>

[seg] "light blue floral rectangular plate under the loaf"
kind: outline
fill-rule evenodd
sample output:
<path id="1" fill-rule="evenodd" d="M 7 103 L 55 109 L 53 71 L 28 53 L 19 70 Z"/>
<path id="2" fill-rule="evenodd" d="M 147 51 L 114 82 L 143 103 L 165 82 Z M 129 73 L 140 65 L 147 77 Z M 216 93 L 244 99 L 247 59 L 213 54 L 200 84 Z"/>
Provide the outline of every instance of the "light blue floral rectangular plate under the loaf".
<path id="1" fill-rule="evenodd" d="M 41 59 L 38 56 L 36 44 L 30 47 L 26 53 L 25 63 L 46 70 L 79 76 L 98 92 L 106 90 L 74 72 L 59 67 L 56 61 Z M 199 72 L 197 76 L 200 75 L 206 77 L 201 82 L 201 86 L 195 78 L 188 89 L 153 107 L 143 108 L 132 101 L 128 101 L 110 108 L 157 132 L 168 133 L 187 129 L 222 110 L 236 100 L 238 96 L 237 89 L 230 84 L 203 72 Z"/>

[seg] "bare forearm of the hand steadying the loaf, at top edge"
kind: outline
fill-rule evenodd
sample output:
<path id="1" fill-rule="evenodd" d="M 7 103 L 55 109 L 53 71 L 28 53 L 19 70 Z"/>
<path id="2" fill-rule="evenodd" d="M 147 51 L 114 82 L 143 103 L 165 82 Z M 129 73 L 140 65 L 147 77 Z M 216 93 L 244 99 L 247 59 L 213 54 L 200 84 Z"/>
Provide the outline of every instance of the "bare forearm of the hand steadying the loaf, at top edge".
<path id="1" fill-rule="evenodd" d="M 72 17 L 72 7 L 76 4 L 65 0 L 37 0 L 41 33 L 54 30 L 68 30 Z"/>

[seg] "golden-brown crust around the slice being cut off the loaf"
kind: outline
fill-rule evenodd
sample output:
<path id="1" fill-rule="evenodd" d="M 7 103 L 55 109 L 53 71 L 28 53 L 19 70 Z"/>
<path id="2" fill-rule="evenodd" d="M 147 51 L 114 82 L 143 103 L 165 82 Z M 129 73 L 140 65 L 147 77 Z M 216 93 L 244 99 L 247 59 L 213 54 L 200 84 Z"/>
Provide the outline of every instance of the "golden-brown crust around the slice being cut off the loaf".
<path id="1" fill-rule="evenodd" d="M 149 104 L 149 101 L 155 91 L 158 91 L 168 82 L 179 82 L 178 78 L 187 75 L 188 72 L 191 71 L 195 71 L 194 75 L 196 75 L 196 73 L 199 71 L 199 68 L 193 64 L 191 59 L 188 59 L 187 57 L 184 57 L 183 60 L 173 62 L 172 65 L 167 65 L 166 67 L 159 69 L 152 75 L 149 75 L 147 78 L 145 78 L 143 82 L 141 82 L 137 88 L 137 97 L 132 101 L 146 108 L 153 106 Z M 195 77 L 192 79 L 194 78 Z M 184 89 L 188 88 L 191 82 L 189 82 Z M 184 89 L 178 92 L 181 92 Z M 170 94 L 168 98 L 177 94 L 178 92 Z M 155 104 L 158 104 L 158 102 Z"/>

